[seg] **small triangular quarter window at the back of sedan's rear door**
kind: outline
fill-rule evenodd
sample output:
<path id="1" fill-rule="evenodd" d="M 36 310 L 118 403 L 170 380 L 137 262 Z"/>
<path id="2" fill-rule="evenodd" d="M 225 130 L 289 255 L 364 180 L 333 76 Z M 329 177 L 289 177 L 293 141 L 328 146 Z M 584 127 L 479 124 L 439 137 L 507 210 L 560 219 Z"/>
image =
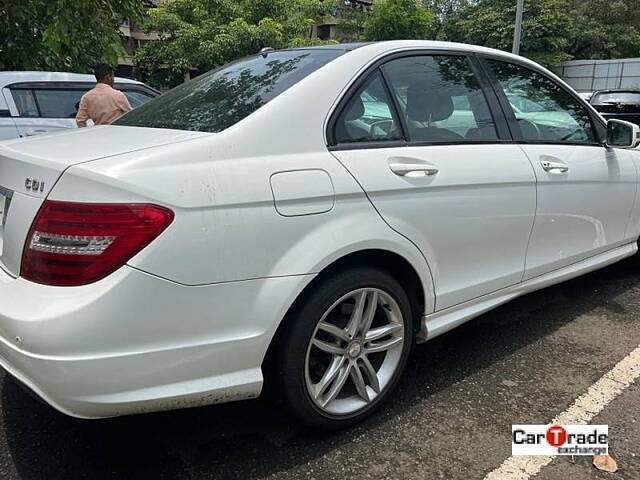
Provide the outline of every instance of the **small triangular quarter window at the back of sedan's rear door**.
<path id="1" fill-rule="evenodd" d="M 393 106 L 376 72 L 349 100 L 336 122 L 337 143 L 401 140 Z"/>

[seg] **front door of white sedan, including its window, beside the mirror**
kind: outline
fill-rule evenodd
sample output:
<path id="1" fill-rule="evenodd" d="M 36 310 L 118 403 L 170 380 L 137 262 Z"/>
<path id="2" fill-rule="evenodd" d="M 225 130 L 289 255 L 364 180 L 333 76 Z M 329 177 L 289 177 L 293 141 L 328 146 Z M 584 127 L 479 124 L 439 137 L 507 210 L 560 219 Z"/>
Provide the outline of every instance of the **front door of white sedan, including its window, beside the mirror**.
<path id="1" fill-rule="evenodd" d="M 505 110 L 513 107 L 514 135 L 537 177 L 525 279 L 628 243 L 637 174 L 627 152 L 603 146 L 594 116 L 552 78 L 523 65 L 486 64 Z"/>

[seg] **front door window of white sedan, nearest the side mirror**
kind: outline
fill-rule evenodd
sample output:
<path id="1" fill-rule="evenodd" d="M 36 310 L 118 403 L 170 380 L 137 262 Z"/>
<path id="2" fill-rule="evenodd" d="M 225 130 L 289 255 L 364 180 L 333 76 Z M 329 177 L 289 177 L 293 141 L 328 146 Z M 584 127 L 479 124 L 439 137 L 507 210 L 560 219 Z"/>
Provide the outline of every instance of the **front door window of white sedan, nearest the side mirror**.
<path id="1" fill-rule="evenodd" d="M 520 65 L 489 60 L 511 104 L 522 139 L 530 142 L 594 144 L 587 109 L 544 75 Z"/>

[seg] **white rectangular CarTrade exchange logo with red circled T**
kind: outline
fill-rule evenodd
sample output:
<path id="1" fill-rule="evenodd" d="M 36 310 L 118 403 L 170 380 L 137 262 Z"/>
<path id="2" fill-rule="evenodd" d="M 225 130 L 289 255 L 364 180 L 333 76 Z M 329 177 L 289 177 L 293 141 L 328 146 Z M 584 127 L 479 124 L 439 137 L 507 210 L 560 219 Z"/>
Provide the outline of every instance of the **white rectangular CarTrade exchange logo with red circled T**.
<path id="1" fill-rule="evenodd" d="M 608 455 L 608 425 L 512 425 L 511 455 Z"/>

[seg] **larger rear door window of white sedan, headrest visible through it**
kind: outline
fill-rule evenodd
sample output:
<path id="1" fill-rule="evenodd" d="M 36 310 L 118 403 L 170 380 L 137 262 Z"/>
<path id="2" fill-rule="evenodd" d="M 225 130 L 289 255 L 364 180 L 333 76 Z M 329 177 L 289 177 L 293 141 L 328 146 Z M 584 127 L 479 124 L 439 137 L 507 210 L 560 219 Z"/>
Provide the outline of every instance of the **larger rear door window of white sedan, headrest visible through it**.
<path id="1" fill-rule="evenodd" d="M 383 69 L 410 141 L 497 140 L 489 105 L 466 57 L 403 57 Z"/>

